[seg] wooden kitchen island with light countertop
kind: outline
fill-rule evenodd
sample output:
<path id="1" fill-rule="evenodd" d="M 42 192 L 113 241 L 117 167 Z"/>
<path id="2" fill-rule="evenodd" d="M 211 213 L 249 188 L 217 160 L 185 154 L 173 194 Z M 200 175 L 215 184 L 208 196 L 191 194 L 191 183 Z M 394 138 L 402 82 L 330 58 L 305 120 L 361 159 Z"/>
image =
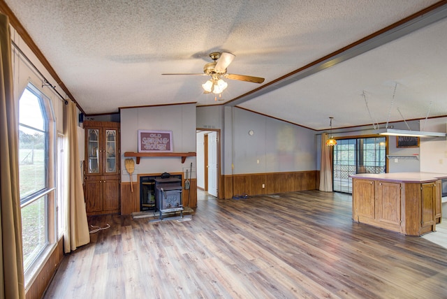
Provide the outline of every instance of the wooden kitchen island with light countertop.
<path id="1" fill-rule="evenodd" d="M 441 222 L 442 173 L 351 175 L 352 219 L 405 235 L 436 231 Z"/>

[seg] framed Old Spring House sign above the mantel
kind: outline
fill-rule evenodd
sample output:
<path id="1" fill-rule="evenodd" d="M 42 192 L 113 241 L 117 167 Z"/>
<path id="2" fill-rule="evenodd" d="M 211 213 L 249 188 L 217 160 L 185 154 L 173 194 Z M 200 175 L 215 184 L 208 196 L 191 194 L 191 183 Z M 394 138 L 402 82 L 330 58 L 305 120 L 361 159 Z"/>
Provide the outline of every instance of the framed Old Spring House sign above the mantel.
<path id="1" fill-rule="evenodd" d="M 138 152 L 173 152 L 173 132 L 138 130 Z"/>

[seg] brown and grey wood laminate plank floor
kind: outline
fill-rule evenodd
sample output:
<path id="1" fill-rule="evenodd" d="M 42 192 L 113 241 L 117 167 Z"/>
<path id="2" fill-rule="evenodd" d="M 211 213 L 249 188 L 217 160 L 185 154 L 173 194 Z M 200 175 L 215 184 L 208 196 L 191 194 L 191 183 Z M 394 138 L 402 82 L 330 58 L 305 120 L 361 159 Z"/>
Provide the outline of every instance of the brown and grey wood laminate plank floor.
<path id="1" fill-rule="evenodd" d="M 200 200 L 191 221 L 110 228 L 61 263 L 44 298 L 447 298 L 447 249 L 351 220 L 351 196 Z"/>

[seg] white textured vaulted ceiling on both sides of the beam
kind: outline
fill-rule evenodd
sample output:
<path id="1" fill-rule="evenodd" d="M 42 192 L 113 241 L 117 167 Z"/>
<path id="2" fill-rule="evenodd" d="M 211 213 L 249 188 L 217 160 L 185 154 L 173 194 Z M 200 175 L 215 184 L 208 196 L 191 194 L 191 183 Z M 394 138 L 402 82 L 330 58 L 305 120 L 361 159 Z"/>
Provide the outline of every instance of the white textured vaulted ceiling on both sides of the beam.
<path id="1" fill-rule="evenodd" d="M 196 102 L 316 130 L 328 129 L 328 117 L 337 128 L 447 115 L 444 6 L 274 81 L 437 1 L 5 2 L 87 115 Z M 201 73 L 213 51 L 236 55 L 228 73 L 265 82 L 228 80 L 214 101 L 205 76 L 161 75 Z"/>

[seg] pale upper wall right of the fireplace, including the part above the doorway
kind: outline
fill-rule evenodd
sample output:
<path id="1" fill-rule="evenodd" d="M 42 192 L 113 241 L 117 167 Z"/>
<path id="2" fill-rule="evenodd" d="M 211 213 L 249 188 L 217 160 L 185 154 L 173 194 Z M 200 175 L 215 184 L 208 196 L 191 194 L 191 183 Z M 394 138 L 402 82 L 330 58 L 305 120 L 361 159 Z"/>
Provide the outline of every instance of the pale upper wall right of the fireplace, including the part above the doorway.
<path id="1" fill-rule="evenodd" d="M 197 115 L 198 127 L 223 130 L 224 175 L 316 170 L 313 130 L 240 108 L 199 107 Z"/>

